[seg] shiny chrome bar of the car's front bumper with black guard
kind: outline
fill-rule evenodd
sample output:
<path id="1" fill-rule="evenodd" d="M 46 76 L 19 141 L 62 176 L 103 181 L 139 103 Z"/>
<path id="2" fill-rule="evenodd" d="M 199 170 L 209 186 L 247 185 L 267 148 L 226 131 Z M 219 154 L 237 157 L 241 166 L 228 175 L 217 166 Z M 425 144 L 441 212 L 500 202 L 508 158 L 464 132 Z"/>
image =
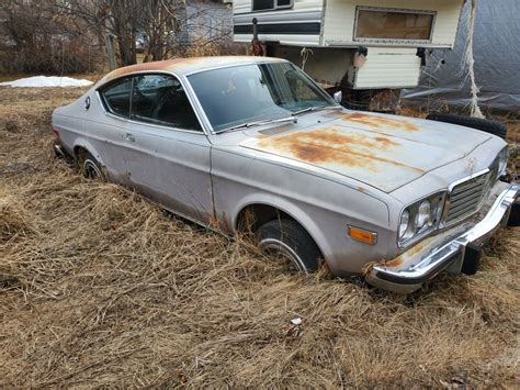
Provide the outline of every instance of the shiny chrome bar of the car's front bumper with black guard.
<path id="1" fill-rule="evenodd" d="M 408 293 L 417 290 L 421 283 L 450 267 L 453 261 L 459 259 L 457 255 L 464 256 L 468 244 L 481 245 L 501 224 L 507 222 L 505 220 L 509 216 L 511 207 L 519 200 L 519 197 L 520 185 L 510 185 L 498 196 L 486 216 L 472 229 L 431 249 L 418 264 L 410 265 L 408 268 L 392 270 L 384 264 L 372 267 L 366 276 L 368 281 L 376 287 L 396 292 Z"/>

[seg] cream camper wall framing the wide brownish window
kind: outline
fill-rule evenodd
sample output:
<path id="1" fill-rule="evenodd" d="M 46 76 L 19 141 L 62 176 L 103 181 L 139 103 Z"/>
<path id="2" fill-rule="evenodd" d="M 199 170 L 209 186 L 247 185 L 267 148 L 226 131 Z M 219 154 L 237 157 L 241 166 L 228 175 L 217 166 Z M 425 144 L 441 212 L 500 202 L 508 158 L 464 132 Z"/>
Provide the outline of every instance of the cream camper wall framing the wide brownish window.
<path id="1" fill-rule="evenodd" d="M 462 0 L 436 0 L 432 2 L 414 0 L 327 0 L 324 45 L 360 45 L 360 42 L 353 41 L 358 5 L 436 11 L 437 16 L 434 19 L 431 44 L 420 46 L 452 48 L 459 25 Z M 377 44 L 372 43 L 372 45 Z M 398 44 L 391 43 L 388 45 L 395 46 Z M 410 45 L 419 46 L 417 43 Z"/>

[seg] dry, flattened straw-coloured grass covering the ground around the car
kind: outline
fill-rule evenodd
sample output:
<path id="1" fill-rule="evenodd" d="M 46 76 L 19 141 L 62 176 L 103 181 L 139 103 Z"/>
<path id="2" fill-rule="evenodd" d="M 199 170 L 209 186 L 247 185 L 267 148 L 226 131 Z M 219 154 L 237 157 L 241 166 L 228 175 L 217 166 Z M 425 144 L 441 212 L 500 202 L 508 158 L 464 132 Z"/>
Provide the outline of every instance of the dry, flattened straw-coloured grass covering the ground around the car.
<path id="1" fill-rule="evenodd" d="M 0 88 L 1 387 L 520 386 L 520 230 L 409 297 L 291 275 L 54 159 L 80 93 Z"/>

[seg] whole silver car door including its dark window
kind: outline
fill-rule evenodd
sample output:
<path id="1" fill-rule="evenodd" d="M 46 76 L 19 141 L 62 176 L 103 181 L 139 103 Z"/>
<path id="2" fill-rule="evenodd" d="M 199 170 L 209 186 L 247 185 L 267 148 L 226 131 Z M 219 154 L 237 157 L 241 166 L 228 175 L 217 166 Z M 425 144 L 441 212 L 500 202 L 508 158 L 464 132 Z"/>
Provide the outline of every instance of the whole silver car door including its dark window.
<path id="1" fill-rule="evenodd" d="M 134 76 L 126 148 L 136 191 L 197 222 L 211 222 L 211 144 L 177 78 Z"/>

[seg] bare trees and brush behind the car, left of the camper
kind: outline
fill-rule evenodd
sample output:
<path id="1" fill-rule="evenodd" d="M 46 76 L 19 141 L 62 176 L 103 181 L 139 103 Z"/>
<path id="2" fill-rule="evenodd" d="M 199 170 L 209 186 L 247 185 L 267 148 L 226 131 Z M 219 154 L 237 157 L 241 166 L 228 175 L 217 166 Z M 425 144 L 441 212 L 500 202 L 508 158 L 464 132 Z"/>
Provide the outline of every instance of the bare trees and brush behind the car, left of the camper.
<path id="1" fill-rule="evenodd" d="M 230 15 L 208 0 L 3 0 L 2 9 L 12 13 L 9 35 L 18 51 L 56 52 L 56 37 L 75 37 L 86 42 L 77 51 L 91 42 L 98 52 L 104 46 L 111 68 L 137 63 L 137 36 L 146 37 L 145 62 L 230 43 Z"/>

